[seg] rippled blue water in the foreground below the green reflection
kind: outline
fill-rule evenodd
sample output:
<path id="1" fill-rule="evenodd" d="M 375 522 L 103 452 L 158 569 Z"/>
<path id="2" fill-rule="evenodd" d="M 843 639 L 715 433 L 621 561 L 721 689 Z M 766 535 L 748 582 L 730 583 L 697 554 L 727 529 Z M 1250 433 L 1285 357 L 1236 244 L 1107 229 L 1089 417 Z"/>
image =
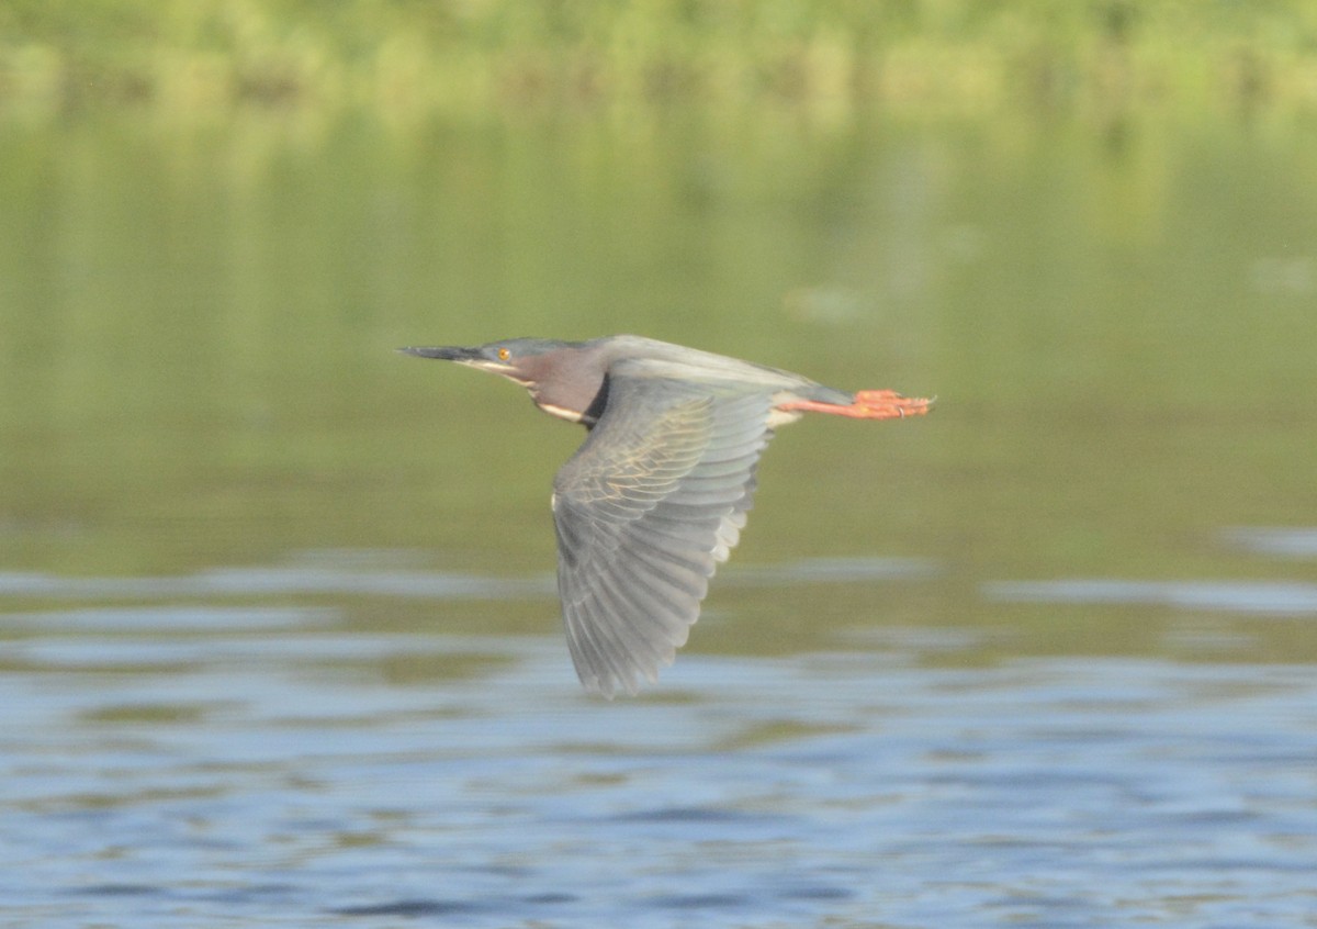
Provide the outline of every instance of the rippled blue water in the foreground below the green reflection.
<path id="1" fill-rule="evenodd" d="M 163 580 L 7 617 L 7 925 L 1317 925 L 1310 667 L 948 667 L 982 633 L 896 627 L 687 648 L 605 702 L 557 635 L 363 634 L 287 578 L 245 605 Z M 1013 590 L 1040 596 L 984 594 Z"/>

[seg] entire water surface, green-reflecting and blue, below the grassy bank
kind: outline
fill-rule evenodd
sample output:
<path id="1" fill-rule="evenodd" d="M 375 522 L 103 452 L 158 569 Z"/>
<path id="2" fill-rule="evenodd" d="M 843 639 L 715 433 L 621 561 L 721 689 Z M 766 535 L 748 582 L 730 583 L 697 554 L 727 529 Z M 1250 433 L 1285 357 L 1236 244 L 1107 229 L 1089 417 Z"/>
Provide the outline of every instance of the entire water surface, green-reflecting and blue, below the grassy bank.
<path id="1" fill-rule="evenodd" d="M 1312 127 L 734 109 L 0 133 L 11 920 L 1312 925 Z M 940 399 L 608 704 L 579 430 L 392 349 L 627 331 Z"/>

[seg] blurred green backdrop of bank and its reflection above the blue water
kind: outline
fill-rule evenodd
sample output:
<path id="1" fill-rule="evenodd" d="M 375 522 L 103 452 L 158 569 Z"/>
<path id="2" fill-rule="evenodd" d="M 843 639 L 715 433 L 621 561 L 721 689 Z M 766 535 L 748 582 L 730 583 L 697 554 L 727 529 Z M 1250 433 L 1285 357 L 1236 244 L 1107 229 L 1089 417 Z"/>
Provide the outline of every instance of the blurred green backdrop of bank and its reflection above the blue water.
<path id="1" fill-rule="evenodd" d="M 0 203 L 12 572 L 547 573 L 579 432 L 391 349 L 612 332 L 939 397 L 765 459 L 736 564 L 939 565 L 864 622 L 1158 651 L 979 592 L 1310 568 L 1227 542 L 1317 524 L 1310 4 L 11 0 Z"/>

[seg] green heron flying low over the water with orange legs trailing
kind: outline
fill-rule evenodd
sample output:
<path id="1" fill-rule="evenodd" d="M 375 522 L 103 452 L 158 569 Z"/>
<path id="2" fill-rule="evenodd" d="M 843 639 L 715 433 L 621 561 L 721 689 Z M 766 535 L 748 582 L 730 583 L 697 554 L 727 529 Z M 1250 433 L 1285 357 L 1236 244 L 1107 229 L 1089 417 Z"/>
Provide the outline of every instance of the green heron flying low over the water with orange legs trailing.
<path id="1" fill-rule="evenodd" d="M 502 374 L 590 431 L 558 470 L 552 505 L 572 660 L 605 697 L 657 680 L 686 643 L 745 527 L 773 430 L 806 411 L 893 419 L 930 405 L 640 336 L 399 351 Z"/>

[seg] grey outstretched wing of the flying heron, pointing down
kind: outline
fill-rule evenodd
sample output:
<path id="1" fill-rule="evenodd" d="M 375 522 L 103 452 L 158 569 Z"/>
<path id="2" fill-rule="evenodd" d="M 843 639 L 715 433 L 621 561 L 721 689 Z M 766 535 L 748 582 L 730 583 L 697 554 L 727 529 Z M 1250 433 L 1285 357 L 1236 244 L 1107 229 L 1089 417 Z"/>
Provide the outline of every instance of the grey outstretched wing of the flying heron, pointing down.
<path id="1" fill-rule="evenodd" d="M 686 643 L 745 526 L 770 408 L 768 391 L 610 380 L 603 415 L 553 482 L 558 594 L 587 690 L 635 693 Z"/>

